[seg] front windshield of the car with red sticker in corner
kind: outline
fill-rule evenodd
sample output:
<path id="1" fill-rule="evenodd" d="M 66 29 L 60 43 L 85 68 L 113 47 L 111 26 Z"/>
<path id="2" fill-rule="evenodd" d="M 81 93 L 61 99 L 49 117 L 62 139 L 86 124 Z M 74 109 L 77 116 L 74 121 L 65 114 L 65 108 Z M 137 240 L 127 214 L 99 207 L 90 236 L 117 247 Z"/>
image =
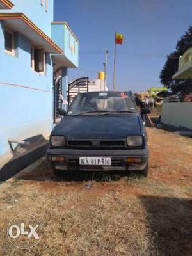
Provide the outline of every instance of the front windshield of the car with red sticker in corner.
<path id="1" fill-rule="evenodd" d="M 79 93 L 68 109 L 67 115 L 85 113 L 132 113 L 136 107 L 126 92 L 88 92 Z"/>

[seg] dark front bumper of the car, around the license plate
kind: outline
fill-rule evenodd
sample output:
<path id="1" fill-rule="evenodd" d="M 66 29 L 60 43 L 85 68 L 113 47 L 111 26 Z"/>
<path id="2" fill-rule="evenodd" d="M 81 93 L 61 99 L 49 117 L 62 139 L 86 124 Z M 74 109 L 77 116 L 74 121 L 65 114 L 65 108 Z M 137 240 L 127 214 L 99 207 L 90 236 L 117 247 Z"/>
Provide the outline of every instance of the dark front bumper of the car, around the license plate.
<path id="1" fill-rule="evenodd" d="M 63 161 L 52 161 L 52 157 L 65 157 Z M 79 157 L 111 157 L 111 166 L 82 166 Z M 141 159 L 140 163 L 130 163 L 128 159 Z M 136 150 L 74 150 L 49 148 L 47 159 L 58 170 L 71 171 L 135 171 L 143 170 L 148 163 L 148 149 Z"/>

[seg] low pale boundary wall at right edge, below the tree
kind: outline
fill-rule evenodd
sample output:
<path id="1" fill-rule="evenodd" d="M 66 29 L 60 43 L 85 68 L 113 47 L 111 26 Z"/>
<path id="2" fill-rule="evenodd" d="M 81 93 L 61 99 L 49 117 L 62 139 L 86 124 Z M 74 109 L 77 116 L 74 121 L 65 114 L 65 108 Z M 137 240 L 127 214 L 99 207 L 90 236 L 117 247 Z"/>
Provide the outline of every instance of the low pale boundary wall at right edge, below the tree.
<path id="1" fill-rule="evenodd" d="M 192 129 L 192 102 L 164 102 L 161 122 L 177 128 Z"/>

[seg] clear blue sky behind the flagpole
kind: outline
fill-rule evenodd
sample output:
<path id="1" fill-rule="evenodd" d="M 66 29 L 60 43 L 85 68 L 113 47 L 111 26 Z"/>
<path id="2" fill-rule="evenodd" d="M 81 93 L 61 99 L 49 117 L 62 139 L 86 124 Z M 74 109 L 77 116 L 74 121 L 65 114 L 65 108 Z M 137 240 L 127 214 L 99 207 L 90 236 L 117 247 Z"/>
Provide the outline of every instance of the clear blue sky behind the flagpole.
<path id="1" fill-rule="evenodd" d="M 68 81 L 104 70 L 108 49 L 108 88 L 113 89 L 115 32 L 116 90 L 143 91 L 161 86 L 159 72 L 177 40 L 192 24 L 191 0 L 54 0 L 54 20 L 67 21 L 79 40 L 79 68 Z"/>

